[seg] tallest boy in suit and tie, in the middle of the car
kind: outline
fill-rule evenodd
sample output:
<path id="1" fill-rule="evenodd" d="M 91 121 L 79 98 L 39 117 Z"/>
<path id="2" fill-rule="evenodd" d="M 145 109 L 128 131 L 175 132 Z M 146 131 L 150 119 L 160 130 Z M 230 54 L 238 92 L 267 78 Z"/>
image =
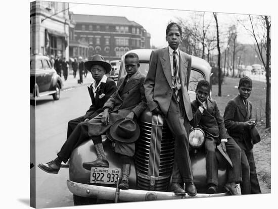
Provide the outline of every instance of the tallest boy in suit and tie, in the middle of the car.
<path id="1" fill-rule="evenodd" d="M 192 110 L 188 94 L 191 57 L 178 49 L 181 27 L 170 23 L 166 28 L 168 47 L 154 50 L 144 84 L 147 103 L 153 114 L 163 114 L 175 139 L 173 178 L 170 190 L 176 195 L 197 194 L 189 156 L 189 121 Z M 179 183 L 186 183 L 184 191 Z"/>

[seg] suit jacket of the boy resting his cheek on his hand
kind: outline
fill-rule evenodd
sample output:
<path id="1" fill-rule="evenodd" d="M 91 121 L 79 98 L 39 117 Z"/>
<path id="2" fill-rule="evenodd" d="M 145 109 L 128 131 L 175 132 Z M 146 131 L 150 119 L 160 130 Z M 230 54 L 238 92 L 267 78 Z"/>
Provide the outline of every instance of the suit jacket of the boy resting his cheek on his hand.
<path id="1" fill-rule="evenodd" d="M 204 109 L 203 114 L 199 110 L 199 102 L 194 100 L 191 103 L 193 111 L 193 119 L 190 124 L 195 127 L 199 125 L 206 133 L 206 138 L 212 138 L 220 143 L 220 139 L 229 139 L 224 126 L 224 119 L 220 115 L 217 103 L 213 99 L 207 99 L 207 109 Z"/>

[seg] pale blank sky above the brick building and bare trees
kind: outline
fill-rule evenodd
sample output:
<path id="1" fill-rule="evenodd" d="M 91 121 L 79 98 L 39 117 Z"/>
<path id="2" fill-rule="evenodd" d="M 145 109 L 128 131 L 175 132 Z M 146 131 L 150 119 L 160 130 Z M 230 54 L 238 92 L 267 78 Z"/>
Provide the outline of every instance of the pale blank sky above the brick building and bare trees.
<path id="1" fill-rule="evenodd" d="M 101 6 L 90 4 L 69 4 L 70 11 L 74 14 L 87 15 L 107 15 L 107 16 L 124 16 L 128 20 L 132 20 L 141 24 L 151 34 L 151 45 L 156 47 L 164 47 L 167 45 L 165 40 L 165 30 L 169 21 L 176 21 L 177 18 L 190 20 L 196 12 L 184 10 L 167 10 L 167 9 L 149 9 L 135 7 L 120 7 L 120 6 Z M 225 27 L 231 24 L 237 24 L 236 19 L 246 19 L 247 15 L 235 15 L 228 13 L 219 13 L 219 26 L 225 30 Z M 212 13 L 206 12 L 205 21 L 212 21 L 215 25 L 215 20 Z M 247 22 L 249 26 L 249 22 Z M 238 41 L 240 43 L 254 43 L 250 34 L 238 24 Z"/>

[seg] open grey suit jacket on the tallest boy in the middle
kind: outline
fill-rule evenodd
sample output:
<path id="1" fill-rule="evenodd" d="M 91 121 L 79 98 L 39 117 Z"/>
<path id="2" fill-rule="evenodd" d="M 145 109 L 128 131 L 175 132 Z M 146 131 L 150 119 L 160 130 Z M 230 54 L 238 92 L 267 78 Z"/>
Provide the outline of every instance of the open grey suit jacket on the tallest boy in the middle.
<path id="1" fill-rule="evenodd" d="M 191 72 L 191 56 L 179 50 L 179 78 L 187 117 L 192 120 L 192 110 L 188 94 Z M 172 76 L 168 47 L 154 50 L 150 57 L 150 67 L 144 83 L 145 95 L 150 111 L 159 106 L 166 116 L 172 97 Z"/>

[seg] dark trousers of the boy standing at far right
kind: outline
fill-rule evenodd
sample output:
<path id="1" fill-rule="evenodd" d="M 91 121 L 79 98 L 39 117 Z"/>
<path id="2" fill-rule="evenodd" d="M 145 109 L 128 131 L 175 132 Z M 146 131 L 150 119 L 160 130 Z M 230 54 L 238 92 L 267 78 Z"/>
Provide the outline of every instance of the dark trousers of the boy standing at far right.
<path id="1" fill-rule="evenodd" d="M 253 151 L 241 149 L 242 163 L 242 194 L 260 194 L 260 184 L 257 177 Z"/>

